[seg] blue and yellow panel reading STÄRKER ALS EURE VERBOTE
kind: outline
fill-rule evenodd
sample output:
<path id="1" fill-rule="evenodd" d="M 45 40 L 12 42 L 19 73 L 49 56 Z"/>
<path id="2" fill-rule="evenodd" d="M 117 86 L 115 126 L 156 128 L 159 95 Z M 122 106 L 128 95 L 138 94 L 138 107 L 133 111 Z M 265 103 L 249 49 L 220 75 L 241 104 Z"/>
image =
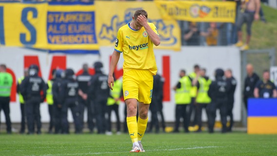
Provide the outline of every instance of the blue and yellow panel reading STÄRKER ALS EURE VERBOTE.
<path id="1" fill-rule="evenodd" d="M 49 2 L 47 44 L 50 52 L 98 53 L 94 2 Z"/>

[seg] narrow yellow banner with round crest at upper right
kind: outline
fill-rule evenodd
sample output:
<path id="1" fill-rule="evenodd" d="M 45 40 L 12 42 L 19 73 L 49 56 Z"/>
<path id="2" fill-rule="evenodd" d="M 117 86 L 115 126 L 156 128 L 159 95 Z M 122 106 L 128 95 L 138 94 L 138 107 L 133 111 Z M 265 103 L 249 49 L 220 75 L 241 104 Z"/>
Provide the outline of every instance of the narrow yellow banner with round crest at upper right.
<path id="1" fill-rule="evenodd" d="M 233 1 L 163 1 L 155 0 L 162 19 L 194 22 L 235 22 Z"/>

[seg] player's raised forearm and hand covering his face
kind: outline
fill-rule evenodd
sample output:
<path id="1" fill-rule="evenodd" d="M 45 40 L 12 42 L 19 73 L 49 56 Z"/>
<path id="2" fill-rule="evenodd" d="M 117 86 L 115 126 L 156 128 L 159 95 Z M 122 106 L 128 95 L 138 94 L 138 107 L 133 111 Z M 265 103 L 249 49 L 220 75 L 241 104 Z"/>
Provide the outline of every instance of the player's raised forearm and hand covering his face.
<path id="1" fill-rule="evenodd" d="M 158 46 L 159 43 L 160 43 L 160 39 L 159 39 L 159 36 L 158 34 L 156 34 L 152 29 L 151 27 L 149 26 L 149 24 L 147 23 L 147 19 L 145 16 L 142 16 L 142 15 L 139 15 L 137 20 L 139 21 L 139 24 L 141 26 L 144 27 L 144 29 L 146 30 L 146 32 L 148 33 L 149 35 L 149 38 L 151 39 L 151 41 L 156 45 Z"/>

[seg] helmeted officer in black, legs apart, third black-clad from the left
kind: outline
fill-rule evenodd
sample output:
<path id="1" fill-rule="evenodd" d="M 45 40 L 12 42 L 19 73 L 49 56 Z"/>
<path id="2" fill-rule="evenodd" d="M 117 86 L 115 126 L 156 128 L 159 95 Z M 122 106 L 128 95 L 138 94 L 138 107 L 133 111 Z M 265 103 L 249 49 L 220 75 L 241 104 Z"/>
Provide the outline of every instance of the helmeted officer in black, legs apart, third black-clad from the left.
<path id="1" fill-rule="evenodd" d="M 75 133 L 81 133 L 80 110 L 78 100 L 78 82 L 73 78 L 74 72 L 72 69 L 65 70 L 65 79 L 61 83 L 60 100 L 62 103 L 62 131 L 64 134 L 69 134 L 69 124 L 67 120 L 68 108 L 74 119 Z"/>

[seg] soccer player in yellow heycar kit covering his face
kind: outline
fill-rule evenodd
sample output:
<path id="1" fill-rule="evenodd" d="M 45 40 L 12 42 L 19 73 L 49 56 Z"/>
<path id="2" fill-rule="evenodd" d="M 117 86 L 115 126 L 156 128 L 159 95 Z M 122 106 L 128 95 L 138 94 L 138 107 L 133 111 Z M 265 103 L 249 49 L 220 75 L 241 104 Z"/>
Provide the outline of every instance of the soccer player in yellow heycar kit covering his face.
<path id="1" fill-rule="evenodd" d="M 147 22 L 145 10 L 137 10 L 133 16 L 133 21 L 119 28 L 110 63 L 108 85 L 113 89 L 113 73 L 119 61 L 120 53 L 123 53 L 122 87 L 127 105 L 127 126 L 133 142 L 133 149 L 130 152 L 144 152 L 141 138 L 144 136 L 148 121 L 153 75 L 157 73 L 153 44 L 158 46 L 159 43 L 157 28 L 153 23 Z"/>

